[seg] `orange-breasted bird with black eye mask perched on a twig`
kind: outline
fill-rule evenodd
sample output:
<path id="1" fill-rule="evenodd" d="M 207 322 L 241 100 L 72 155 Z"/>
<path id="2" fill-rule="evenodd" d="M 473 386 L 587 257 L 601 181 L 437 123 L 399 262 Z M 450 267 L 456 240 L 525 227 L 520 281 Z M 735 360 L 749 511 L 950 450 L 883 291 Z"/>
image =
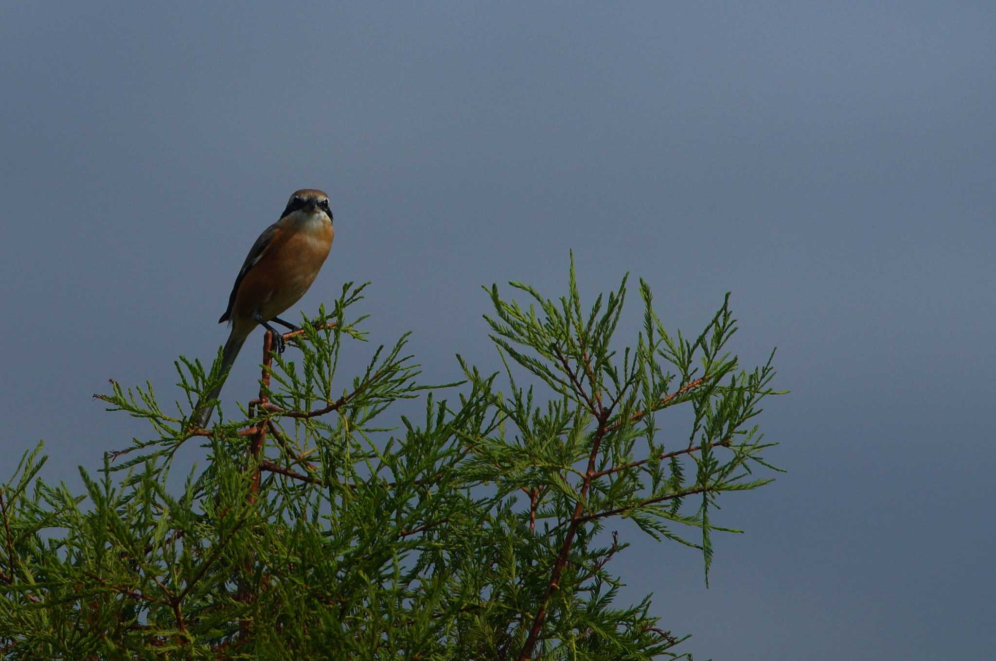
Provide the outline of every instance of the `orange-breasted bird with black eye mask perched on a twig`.
<path id="1" fill-rule="evenodd" d="M 291 195 L 280 220 L 256 239 L 235 278 L 228 308 L 218 320 L 218 324 L 228 322 L 231 327 L 221 351 L 222 380 L 194 407 L 198 427 L 207 425 L 214 411 L 212 402 L 221 393 L 228 369 L 249 333 L 262 326 L 273 332 L 277 350 L 284 351 L 283 334 L 270 322 L 298 330 L 278 316 L 301 300 L 315 282 L 335 236 L 329 196 L 317 188 L 302 188 Z"/>

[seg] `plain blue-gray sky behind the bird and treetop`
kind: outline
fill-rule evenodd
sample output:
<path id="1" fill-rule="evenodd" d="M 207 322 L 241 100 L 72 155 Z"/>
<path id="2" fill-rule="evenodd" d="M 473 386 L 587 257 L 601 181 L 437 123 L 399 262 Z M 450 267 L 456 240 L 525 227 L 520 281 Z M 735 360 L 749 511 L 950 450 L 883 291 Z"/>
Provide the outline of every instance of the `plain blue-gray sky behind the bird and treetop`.
<path id="1" fill-rule="evenodd" d="M 0 7 L 0 475 L 44 438 L 78 488 L 144 436 L 91 394 L 174 398 L 316 186 L 336 245 L 298 310 L 373 281 L 373 338 L 414 331 L 428 380 L 494 368 L 479 285 L 559 295 L 571 248 L 584 293 L 631 271 L 691 332 L 732 290 L 733 348 L 779 347 L 791 472 L 728 499 L 711 587 L 675 546 L 617 564 L 685 649 L 987 655 L 996 4 L 276 5 Z"/>

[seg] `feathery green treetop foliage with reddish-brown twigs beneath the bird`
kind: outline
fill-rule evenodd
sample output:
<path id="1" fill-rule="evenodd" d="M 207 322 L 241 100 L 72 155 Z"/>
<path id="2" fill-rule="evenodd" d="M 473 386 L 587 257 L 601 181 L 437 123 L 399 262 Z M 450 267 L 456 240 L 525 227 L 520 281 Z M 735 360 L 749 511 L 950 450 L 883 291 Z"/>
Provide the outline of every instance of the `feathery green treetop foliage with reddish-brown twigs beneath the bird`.
<path id="1" fill-rule="evenodd" d="M 717 499 L 771 480 L 752 421 L 770 359 L 744 371 L 727 351 L 728 297 L 688 338 L 641 281 L 643 328 L 621 353 L 625 280 L 591 309 L 573 264 L 565 297 L 511 287 L 528 307 L 486 290 L 503 368 L 457 356 L 458 383 L 420 384 L 404 336 L 341 376 L 342 350 L 368 350 L 352 285 L 213 429 L 190 419 L 217 360 L 176 363 L 175 414 L 150 385 L 114 383 L 99 397 L 146 420 L 146 440 L 99 477 L 81 468 L 82 496 L 38 478 L 41 445 L 0 488 L 5 658 L 690 658 L 649 597 L 618 603 L 610 566 L 629 543 L 606 526 L 698 549 L 708 577 L 712 533 L 730 531 Z M 388 418 L 419 396 L 423 419 Z M 671 408 L 690 413 L 687 439 L 655 426 Z M 171 493 L 190 441 L 206 468 Z"/>

